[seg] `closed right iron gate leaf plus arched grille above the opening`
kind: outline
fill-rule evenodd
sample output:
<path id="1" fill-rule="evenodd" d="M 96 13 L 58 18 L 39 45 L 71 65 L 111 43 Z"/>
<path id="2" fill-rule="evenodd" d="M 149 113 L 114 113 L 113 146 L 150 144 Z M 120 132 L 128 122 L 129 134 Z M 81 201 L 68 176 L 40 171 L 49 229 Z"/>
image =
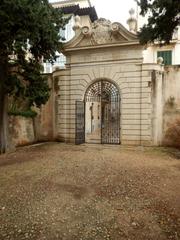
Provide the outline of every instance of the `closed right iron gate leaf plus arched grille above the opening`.
<path id="1" fill-rule="evenodd" d="M 120 95 L 109 81 L 92 84 L 85 95 L 86 102 L 98 102 L 101 107 L 101 143 L 120 144 Z"/>

